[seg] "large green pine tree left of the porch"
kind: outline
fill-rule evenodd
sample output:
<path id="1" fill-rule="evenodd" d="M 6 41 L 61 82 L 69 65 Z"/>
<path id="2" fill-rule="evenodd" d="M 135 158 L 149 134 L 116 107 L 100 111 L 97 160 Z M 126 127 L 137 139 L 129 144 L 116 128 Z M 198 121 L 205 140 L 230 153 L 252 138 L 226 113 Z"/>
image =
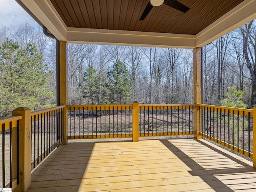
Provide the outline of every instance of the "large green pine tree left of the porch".
<path id="1" fill-rule="evenodd" d="M 17 107 L 31 110 L 47 108 L 50 72 L 34 44 L 22 50 L 17 42 L 6 40 L 0 46 L 0 116 L 7 116 Z"/>

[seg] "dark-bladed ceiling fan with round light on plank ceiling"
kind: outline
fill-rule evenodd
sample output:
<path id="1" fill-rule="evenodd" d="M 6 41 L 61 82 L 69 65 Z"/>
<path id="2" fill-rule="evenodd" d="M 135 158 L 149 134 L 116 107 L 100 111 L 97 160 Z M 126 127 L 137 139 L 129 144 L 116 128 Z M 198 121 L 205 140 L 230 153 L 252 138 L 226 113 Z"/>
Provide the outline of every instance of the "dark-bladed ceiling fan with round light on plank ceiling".
<path id="1" fill-rule="evenodd" d="M 166 4 L 174 9 L 177 9 L 181 12 L 186 13 L 189 8 L 187 6 L 185 6 L 184 4 L 178 2 L 177 0 L 150 0 L 148 2 L 148 5 L 146 6 L 144 12 L 142 13 L 141 17 L 140 17 L 140 21 L 144 20 L 146 18 L 146 16 L 148 15 L 148 13 L 151 11 L 151 9 L 155 6 L 160 6 L 162 4 Z"/>

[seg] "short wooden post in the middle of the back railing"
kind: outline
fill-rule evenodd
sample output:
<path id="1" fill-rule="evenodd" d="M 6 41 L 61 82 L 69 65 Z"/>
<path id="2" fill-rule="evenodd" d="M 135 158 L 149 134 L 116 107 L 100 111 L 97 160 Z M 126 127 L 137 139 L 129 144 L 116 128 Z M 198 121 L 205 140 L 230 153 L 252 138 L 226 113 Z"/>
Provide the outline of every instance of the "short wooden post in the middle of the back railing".
<path id="1" fill-rule="evenodd" d="M 132 108 L 132 141 L 139 141 L 139 103 L 133 102 Z"/>

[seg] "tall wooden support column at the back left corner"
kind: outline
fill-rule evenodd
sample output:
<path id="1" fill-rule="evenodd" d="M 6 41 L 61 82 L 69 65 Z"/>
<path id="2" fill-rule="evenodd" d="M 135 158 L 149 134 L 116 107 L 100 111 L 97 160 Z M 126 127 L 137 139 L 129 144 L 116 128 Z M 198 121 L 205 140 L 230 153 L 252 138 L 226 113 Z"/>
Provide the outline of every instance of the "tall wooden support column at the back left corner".
<path id="1" fill-rule="evenodd" d="M 68 112 L 67 112 L 67 103 L 68 103 L 68 59 L 67 59 L 67 42 L 60 41 L 60 105 L 64 105 L 63 111 L 63 142 L 62 144 L 67 144 L 68 140 Z"/>

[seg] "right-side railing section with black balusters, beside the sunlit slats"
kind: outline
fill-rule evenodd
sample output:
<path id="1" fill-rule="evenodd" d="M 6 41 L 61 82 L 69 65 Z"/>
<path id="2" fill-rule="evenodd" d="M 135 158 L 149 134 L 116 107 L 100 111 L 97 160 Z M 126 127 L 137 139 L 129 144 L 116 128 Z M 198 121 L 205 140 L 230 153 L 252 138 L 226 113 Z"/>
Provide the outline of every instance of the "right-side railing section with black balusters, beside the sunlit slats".
<path id="1" fill-rule="evenodd" d="M 198 106 L 202 137 L 252 158 L 254 110 L 212 105 Z"/>

